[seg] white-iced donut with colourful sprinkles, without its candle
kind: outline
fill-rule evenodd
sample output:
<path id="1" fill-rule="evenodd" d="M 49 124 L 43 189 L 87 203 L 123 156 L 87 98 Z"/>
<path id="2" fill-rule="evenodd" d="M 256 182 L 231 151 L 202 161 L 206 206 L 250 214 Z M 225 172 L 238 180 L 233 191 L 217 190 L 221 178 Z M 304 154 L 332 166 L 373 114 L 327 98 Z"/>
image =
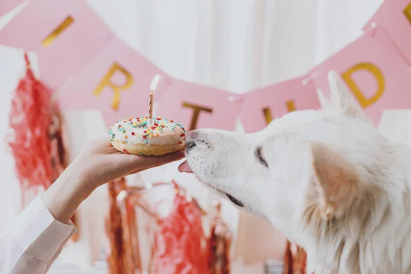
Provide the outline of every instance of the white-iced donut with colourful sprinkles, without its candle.
<path id="1" fill-rule="evenodd" d="M 130 117 L 110 127 L 110 141 L 117 150 L 144 156 L 164 155 L 186 145 L 183 125 L 161 117 L 153 118 L 147 127 L 147 116 Z"/>

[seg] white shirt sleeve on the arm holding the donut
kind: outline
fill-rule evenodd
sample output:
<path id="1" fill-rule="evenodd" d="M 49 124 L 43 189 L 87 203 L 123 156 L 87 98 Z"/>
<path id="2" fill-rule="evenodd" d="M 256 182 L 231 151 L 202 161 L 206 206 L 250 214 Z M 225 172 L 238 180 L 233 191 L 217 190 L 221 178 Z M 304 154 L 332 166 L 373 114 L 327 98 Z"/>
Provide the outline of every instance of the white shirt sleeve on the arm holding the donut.
<path id="1" fill-rule="evenodd" d="M 47 273 L 77 229 L 56 221 L 36 198 L 0 235 L 0 274 Z"/>

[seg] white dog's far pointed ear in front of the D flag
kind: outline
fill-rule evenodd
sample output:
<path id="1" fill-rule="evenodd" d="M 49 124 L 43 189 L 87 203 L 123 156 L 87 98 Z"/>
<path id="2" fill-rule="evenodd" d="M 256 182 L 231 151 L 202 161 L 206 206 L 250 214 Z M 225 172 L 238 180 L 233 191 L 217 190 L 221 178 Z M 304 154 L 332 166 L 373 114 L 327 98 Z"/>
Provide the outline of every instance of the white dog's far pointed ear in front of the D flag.
<path id="1" fill-rule="evenodd" d="M 365 118 L 361 106 L 351 95 L 343 80 L 335 71 L 329 71 L 328 84 L 330 91 L 330 99 L 327 101 L 321 90 L 317 90 L 321 108 L 323 110 L 329 109 L 338 112 L 343 112 L 347 116 L 353 118 Z"/>

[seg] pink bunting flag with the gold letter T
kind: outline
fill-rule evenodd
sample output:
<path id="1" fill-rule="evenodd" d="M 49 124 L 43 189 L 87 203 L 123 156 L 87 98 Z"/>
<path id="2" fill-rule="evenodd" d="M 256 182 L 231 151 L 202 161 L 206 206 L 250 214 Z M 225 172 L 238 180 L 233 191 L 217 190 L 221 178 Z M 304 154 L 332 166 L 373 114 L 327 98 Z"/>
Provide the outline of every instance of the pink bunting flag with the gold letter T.
<path id="1" fill-rule="evenodd" d="M 158 105 L 159 116 L 182 123 L 186 129 L 233 130 L 241 97 L 225 90 L 175 80 Z"/>

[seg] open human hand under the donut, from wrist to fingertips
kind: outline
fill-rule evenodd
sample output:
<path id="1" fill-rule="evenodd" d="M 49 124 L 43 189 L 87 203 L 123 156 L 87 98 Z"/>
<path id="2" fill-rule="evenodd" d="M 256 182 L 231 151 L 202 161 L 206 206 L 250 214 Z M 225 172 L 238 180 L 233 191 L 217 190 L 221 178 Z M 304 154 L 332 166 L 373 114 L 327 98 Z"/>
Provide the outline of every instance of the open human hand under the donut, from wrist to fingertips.
<path id="1" fill-rule="evenodd" d="M 140 156 L 126 154 L 114 149 L 107 139 L 88 142 L 69 166 L 69 171 L 77 172 L 84 184 L 100 186 L 113 179 L 145 171 L 156 166 L 184 158 L 184 151 L 162 156 Z"/>

